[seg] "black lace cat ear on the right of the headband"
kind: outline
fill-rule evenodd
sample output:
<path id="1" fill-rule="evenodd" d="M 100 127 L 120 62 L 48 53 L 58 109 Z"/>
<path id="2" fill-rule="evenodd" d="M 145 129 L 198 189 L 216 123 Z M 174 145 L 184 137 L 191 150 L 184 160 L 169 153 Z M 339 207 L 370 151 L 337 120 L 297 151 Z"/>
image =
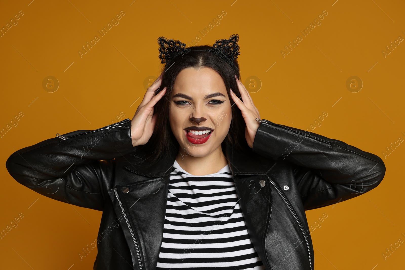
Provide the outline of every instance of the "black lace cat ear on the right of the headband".
<path id="1" fill-rule="evenodd" d="M 212 49 L 207 51 L 215 53 L 216 55 L 223 58 L 230 66 L 234 66 L 234 60 L 238 58 L 239 52 L 239 35 L 233 34 L 228 39 L 218 39 L 212 45 Z"/>

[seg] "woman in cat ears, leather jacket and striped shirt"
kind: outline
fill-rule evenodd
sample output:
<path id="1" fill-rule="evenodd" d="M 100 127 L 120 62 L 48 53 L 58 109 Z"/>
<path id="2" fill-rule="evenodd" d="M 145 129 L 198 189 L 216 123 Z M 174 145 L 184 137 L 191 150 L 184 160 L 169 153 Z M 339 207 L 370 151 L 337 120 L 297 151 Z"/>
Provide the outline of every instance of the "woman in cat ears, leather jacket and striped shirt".
<path id="1" fill-rule="evenodd" d="M 132 120 L 7 160 L 26 187 L 103 211 L 94 269 L 313 270 L 305 210 L 384 178 L 377 155 L 260 120 L 238 79 L 238 38 L 185 48 L 160 37 L 166 65 Z"/>

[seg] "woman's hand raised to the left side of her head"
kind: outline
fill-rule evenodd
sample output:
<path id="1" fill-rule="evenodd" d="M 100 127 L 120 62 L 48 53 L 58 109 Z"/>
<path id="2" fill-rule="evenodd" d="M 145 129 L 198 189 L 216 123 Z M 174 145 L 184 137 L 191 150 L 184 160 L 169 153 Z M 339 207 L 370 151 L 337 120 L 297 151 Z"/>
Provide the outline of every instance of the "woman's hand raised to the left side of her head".
<path id="1" fill-rule="evenodd" d="M 160 88 L 162 83 L 162 74 L 148 87 L 141 104 L 139 104 L 131 120 L 131 138 L 134 147 L 145 145 L 155 129 L 157 115 L 153 115 L 153 106 L 155 106 L 156 102 L 166 93 L 166 87 L 164 87 L 164 89 L 155 96 L 156 91 Z"/>

